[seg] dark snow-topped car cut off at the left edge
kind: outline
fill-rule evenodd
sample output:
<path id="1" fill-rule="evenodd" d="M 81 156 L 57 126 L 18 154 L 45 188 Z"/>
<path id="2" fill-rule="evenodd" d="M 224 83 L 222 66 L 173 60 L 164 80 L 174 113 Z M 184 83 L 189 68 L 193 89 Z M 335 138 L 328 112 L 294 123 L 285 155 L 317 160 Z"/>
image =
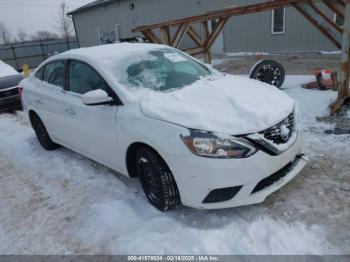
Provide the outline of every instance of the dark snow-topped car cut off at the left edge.
<path id="1" fill-rule="evenodd" d="M 22 107 L 18 88 L 22 79 L 22 74 L 0 60 L 0 112 Z"/>

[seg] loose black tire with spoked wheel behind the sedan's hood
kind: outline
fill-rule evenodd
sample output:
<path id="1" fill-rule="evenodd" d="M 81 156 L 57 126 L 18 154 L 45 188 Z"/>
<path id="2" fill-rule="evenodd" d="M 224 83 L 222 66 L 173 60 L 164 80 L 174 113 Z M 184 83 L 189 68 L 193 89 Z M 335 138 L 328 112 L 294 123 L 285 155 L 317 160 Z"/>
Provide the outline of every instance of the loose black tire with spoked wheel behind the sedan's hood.
<path id="1" fill-rule="evenodd" d="M 283 66 L 273 60 L 263 60 L 257 63 L 250 74 L 251 79 L 255 79 L 277 88 L 281 88 L 286 77 Z"/>

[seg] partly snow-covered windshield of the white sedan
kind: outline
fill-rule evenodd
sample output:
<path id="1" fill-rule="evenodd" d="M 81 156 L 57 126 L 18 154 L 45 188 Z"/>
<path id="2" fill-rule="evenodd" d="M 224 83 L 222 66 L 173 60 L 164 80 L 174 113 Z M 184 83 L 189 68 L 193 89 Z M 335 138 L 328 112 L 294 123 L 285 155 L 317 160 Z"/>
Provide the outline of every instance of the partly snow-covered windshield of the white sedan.
<path id="1" fill-rule="evenodd" d="M 123 84 L 155 91 L 179 89 L 211 74 L 204 65 L 169 48 L 133 54 L 123 64 Z"/>

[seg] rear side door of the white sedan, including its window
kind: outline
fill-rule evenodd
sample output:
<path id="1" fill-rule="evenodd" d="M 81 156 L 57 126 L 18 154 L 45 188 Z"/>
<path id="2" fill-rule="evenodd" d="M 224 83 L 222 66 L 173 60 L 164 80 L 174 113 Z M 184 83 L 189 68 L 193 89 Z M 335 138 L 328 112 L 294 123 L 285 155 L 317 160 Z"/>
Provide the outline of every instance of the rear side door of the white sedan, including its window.
<path id="1" fill-rule="evenodd" d="M 66 83 L 66 61 L 48 63 L 42 75 L 33 103 L 51 138 L 62 142 L 65 137 L 63 99 Z"/>

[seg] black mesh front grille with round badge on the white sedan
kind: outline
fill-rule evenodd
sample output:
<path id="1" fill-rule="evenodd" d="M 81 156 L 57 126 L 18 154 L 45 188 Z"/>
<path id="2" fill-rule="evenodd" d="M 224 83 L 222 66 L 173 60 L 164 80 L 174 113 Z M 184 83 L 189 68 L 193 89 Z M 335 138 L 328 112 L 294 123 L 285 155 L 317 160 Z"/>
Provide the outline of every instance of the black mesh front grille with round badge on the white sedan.
<path id="1" fill-rule="evenodd" d="M 285 133 L 283 128 L 287 128 L 289 132 Z M 295 129 L 294 113 L 291 113 L 285 120 L 278 123 L 277 125 L 261 132 L 260 134 L 272 141 L 274 144 L 280 145 L 288 142 Z M 284 132 L 284 133 L 282 133 Z M 289 133 L 289 134 L 288 134 Z"/>

